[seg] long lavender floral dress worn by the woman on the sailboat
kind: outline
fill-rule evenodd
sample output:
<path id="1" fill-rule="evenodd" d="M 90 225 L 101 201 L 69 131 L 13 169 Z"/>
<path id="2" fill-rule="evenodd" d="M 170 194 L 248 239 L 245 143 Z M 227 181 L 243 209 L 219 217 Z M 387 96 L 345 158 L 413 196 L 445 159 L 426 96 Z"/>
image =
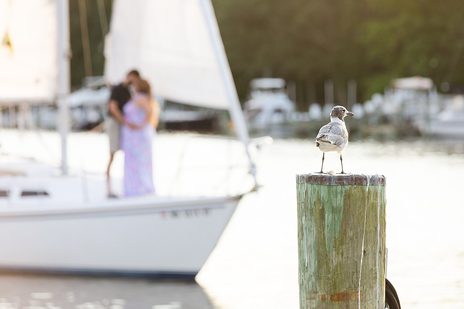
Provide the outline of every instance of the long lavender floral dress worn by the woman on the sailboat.
<path id="1" fill-rule="evenodd" d="M 143 93 L 135 94 L 123 107 L 124 119 L 135 125 L 145 121 L 145 112 L 135 105 Z M 124 195 L 135 196 L 155 192 L 152 168 L 152 141 L 155 129 L 146 124 L 133 130 L 121 126 L 121 149 L 124 151 Z"/>

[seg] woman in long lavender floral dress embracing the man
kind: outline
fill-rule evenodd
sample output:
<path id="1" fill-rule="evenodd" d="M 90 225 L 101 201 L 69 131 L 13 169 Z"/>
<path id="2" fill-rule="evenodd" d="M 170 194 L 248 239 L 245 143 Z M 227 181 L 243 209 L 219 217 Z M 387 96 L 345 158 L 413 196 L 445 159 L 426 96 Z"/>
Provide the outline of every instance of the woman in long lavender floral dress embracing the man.
<path id="1" fill-rule="evenodd" d="M 134 88 L 136 94 L 123 107 L 125 125 L 121 127 L 125 196 L 155 193 L 152 142 L 159 108 L 151 99 L 150 85 L 146 80 L 135 83 Z"/>

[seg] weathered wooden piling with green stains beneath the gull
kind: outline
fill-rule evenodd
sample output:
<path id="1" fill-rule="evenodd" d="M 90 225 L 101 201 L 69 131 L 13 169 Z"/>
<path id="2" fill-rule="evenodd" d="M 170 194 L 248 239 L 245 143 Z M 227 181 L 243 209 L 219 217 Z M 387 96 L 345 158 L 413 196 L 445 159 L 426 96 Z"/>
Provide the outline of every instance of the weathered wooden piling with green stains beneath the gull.
<path id="1" fill-rule="evenodd" d="M 300 309 L 384 309 L 385 177 L 296 175 Z"/>

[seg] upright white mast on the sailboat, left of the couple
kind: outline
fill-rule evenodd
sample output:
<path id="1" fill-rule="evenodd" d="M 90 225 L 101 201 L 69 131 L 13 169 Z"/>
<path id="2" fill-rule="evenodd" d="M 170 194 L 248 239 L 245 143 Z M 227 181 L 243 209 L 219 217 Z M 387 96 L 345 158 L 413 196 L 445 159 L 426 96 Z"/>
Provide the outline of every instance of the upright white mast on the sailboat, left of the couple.
<path id="1" fill-rule="evenodd" d="M 61 136 L 61 170 L 63 175 L 68 173 L 67 143 L 69 132 L 68 95 L 70 92 L 70 44 L 69 44 L 69 0 L 57 0 L 58 20 L 58 131 Z"/>

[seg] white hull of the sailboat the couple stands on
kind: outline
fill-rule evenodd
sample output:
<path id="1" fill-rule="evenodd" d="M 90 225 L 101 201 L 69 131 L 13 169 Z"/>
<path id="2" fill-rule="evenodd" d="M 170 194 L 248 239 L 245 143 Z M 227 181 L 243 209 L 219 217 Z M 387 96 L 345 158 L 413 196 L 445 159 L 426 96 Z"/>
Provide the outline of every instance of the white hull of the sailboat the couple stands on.
<path id="1" fill-rule="evenodd" d="M 240 197 L 2 210 L 0 268 L 194 277 Z"/>

